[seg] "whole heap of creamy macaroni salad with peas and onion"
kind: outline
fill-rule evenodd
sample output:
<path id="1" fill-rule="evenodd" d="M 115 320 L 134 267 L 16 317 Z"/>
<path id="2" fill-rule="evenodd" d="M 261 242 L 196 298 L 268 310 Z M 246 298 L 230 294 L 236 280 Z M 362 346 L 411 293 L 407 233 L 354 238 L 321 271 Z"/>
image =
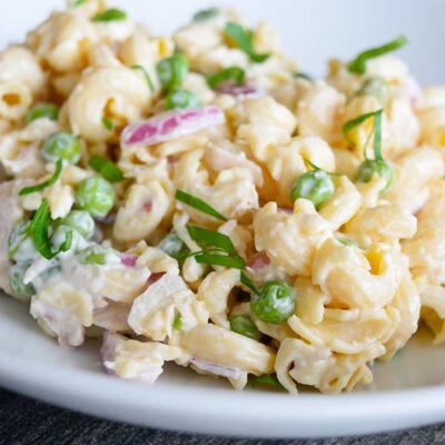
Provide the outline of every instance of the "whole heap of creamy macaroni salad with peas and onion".
<path id="1" fill-rule="evenodd" d="M 445 88 L 404 37 L 312 79 L 266 22 L 73 0 L 0 53 L 0 287 L 107 372 L 297 393 L 445 339 Z"/>

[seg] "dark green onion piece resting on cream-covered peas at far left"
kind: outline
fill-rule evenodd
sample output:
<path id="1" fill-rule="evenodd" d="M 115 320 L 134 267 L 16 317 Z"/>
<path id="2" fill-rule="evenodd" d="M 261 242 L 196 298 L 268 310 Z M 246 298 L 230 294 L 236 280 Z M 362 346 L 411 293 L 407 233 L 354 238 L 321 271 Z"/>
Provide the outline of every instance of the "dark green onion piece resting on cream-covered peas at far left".
<path id="1" fill-rule="evenodd" d="M 52 259 L 62 251 L 67 251 L 72 245 L 72 231 L 67 231 L 66 239 L 60 246 L 59 250 L 53 253 L 48 238 L 48 230 L 51 222 L 50 209 L 48 199 L 44 198 L 36 211 L 32 218 L 31 225 L 29 226 L 29 236 L 39 254 L 47 259 Z"/>

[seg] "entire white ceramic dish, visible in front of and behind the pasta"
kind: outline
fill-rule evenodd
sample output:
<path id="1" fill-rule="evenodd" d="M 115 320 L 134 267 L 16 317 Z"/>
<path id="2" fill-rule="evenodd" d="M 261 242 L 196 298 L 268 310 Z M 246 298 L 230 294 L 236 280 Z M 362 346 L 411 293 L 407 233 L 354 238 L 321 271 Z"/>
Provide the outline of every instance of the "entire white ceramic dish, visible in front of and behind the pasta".
<path id="1" fill-rule="evenodd" d="M 157 32 L 187 20 L 202 0 L 117 0 Z M 233 0 L 212 3 L 230 6 Z M 0 42 L 20 40 L 57 0 L 0 0 Z M 260 4 L 260 7 L 258 7 Z M 309 72 L 322 75 L 333 55 L 403 32 L 412 44 L 403 57 L 424 83 L 444 82 L 439 48 L 445 38 L 438 0 L 244 0 L 251 20 L 267 18 L 283 30 L 285 47 Z M 422 17 L 422 20 L 419 20 Z M 141 19 L 142 20 L 142 19 Z M 154 387 L 119 380 L 100 369 L 98 345 L 59 348 L 42 335 L 27 309 L 0 295 L 0 385 L 96 416 L 194 433 L 263 437 L 365 434 L 445 421 L 445 346 L 427 334 L 414 338 L 393 362 L 375 366 L 373 387 L 354 394 L 299 397 L 248 389 L 169 366 Z"/>

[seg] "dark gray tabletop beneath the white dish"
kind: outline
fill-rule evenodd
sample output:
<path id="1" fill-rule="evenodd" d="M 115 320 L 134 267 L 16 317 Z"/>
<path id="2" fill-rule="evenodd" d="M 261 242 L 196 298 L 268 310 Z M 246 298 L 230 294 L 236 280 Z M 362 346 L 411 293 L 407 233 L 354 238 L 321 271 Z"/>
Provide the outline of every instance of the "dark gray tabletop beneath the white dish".
<path id="1" fill-rule="evenodd" d="M 191 436 L 101 421 L 0 388 L 0 445 L 431 445 L 445 424 L 367 437 L 259 441 Z"/>

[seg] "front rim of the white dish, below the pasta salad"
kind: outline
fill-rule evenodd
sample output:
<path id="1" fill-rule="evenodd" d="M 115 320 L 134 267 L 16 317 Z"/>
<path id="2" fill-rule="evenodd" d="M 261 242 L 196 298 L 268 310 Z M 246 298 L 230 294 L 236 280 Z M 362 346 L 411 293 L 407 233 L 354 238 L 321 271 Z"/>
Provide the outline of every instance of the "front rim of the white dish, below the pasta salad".
<path id="1" fill-rule="evenodd" d="M 0 296 L 0 384 L 95 416 L 192 433 L 299 437 L 365 434 L 445 419 L 445 346 L 426 334 L 375 366 L 372 388 L 299 397 L 235 392 L 168 366 L 152 387 L 101 372 L 98 347 L 67 349 L 41 334 L 22 304 Z"/>

